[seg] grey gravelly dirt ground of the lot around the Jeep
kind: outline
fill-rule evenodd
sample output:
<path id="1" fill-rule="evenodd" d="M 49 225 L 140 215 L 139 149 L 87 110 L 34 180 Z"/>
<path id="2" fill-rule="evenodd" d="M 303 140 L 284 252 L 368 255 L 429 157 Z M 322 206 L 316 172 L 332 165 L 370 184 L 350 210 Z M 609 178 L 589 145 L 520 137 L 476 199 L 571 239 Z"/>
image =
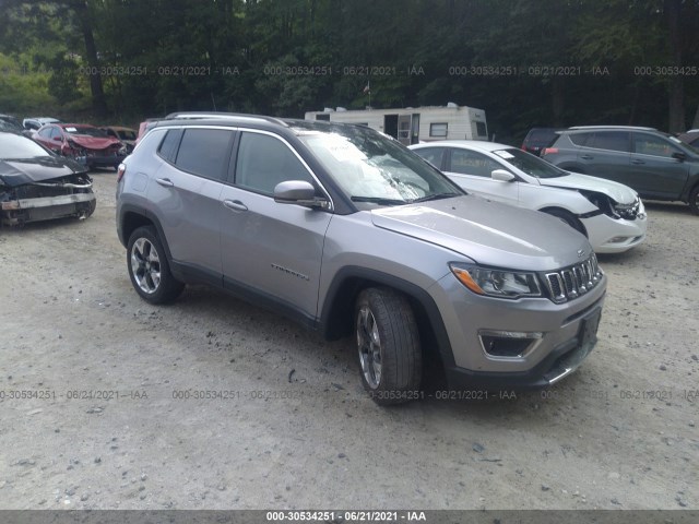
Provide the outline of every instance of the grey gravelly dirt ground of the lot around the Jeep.
<path id="1" fill-rule="evenodd" d="M 115 175 L 94 178 L 87 221 L 0 230 L 1 509 L 699 507 L 687 206 L 650 204 L 648 241 L 600 257 L 600 343 L 574 376 L 381 408 L 347 341 L 204 287 L 142 301 Z"/>

